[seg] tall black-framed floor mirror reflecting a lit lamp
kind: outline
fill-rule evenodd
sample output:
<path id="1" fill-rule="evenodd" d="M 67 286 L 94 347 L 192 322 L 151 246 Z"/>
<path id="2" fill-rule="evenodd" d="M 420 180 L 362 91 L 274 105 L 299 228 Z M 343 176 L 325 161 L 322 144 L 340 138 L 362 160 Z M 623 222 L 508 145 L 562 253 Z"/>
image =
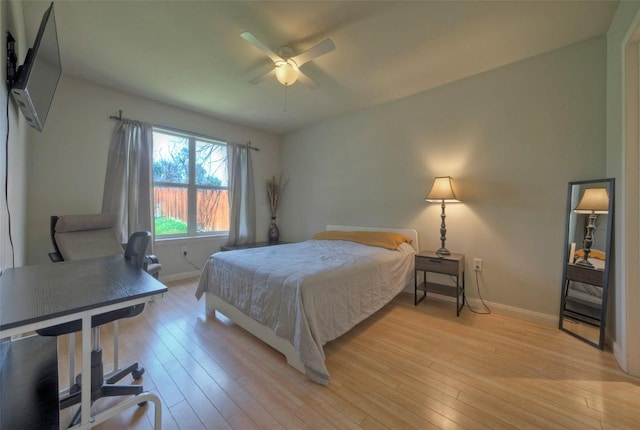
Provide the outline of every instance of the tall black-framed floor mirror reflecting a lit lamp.
<path id="1" fill-rule="evenodd" d="M 613 179 L 569 183 L 560 330 L 604 349 L 613 236 Z"/>

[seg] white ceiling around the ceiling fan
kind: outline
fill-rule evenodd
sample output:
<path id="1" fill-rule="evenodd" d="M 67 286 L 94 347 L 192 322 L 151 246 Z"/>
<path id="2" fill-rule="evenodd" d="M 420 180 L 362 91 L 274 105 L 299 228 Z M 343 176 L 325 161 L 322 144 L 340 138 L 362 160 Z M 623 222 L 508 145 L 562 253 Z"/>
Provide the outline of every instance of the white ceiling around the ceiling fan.
<path id="1" fill-rule="evenodd" d="M 63 73 L 286 133 L 601 35 L 616 5 L 76 0 L 56 1 L 55 13 Z M 29 43 L 47 6 L 24 3 Z M 302 67 L 320 87 L 249 84 L 272 63 L 243 31 L 294 54 L 332 39 L 335 51 Z"/>

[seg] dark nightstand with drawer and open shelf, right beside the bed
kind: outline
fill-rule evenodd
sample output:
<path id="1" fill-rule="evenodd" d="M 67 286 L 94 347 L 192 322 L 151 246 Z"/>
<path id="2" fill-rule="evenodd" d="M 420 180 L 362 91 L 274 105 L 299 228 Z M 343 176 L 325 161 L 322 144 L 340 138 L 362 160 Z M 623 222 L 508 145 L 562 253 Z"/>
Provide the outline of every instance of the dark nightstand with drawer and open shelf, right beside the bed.
<path id="1" fill-rule="evenodd" d="M 427 292 L 441 294 L 456 298 L 456 315 L 464 306 L 464 254 L 450 254 L 440 256 L 435 251 L 420 251 L 415 255 L 415 291 L 414 305 L 417 305 L 425 297 Z M 422 282 L 419 282 L 422 272 Z M 439 273 L 449 275 L 455 281 L 455 285 L 445 285 L 427 281 L 427 273 Z M 462 281 L 462 282 L 461 282 Z M 422 297 L 418 299 L 418 291 L 422 291 Z"/>

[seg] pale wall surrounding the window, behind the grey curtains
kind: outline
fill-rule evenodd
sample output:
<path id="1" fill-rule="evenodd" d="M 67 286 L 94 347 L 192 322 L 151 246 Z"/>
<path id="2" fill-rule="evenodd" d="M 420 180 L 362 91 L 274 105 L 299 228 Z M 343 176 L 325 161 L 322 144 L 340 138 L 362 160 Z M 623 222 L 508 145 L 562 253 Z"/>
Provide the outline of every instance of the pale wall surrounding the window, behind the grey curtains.
<path id="1" fill-rule="evenodd" d="M 63 75 L 43 133 L 31 131 L 28 193 L 28 262 L 48 261 L 51 250 L 49 216 L 97 213 L 102 207 L 107 150 L 118 115 L 201 133 L 230 142 L 251 141 L 261 149 L 253 153 L 256 178 L 258 237 L 267 238 L 270 215 L 260 190 L 278 169 L 278 138 L 246 127 L 188 112 L 148 99 L 114 91 Z M 260 222 L 262 220 L 263 222 Z M 155 253 L 163 264 L 161 279 L 197 272 L 183 260 L 180 247 L 187 245 L 188 258 L 202 267 L 206 258 L 226 241 L 193 239 L 156 242 Z"/>

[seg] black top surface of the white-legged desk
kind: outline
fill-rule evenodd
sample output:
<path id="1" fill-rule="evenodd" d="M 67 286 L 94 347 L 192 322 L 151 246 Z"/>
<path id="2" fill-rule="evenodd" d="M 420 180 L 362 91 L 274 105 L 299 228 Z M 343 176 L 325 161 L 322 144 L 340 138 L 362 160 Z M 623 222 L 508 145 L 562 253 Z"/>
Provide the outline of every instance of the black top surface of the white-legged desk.
<path id="1" fill-rule="evenodd" d="M 166 291 L 120 255 L 7 269 L 0 276 L 0 330 Z"/>

